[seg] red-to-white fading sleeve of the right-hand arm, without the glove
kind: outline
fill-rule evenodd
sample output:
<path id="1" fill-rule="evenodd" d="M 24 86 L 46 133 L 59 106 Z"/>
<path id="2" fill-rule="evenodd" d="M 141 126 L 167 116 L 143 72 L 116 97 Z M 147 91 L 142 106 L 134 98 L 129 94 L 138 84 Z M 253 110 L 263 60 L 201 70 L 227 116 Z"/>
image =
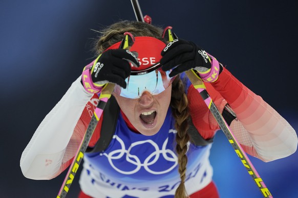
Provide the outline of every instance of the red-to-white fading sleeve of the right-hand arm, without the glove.
<path id="1" fill-rule="evenodd" d="M 267 162 L 296 151 L 297 135 L 289 123 L 227 69 L 212 86 L 237 114 L 230 128 L 245 152 Z"/>

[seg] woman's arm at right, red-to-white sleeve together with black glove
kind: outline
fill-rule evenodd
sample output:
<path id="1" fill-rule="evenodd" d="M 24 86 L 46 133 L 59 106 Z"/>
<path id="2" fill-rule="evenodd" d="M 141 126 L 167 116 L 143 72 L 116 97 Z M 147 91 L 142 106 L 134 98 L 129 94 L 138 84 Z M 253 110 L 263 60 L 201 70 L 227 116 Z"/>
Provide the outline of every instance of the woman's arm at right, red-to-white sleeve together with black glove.
<path id="1" fill-rule="evenodd" d="M 296 151 L 297 135 L 289 123 L 201 47 L 190 41 L 176 39 L 175 42 L 168 44 L 161 55 L 162 69 L 173 69 L 169 76 L 196 69 L 201 79 L 219 92 L 237 114 L 238 121 L 232 121 L 231 128 L 236 137 L 241 139 L 240 143 L 248 154 L 263 161 L 271 161 L 289 156 Z M 207 86 L 206 89 L 209 92 Z M 212 97 L 211 94 L 210 96 Z M 220 97 L 213 100 L 222 112 L 222 104 L 226 102 Z M 214 135 L 210 129 L 217 130 L 218 128 L 206 109 L 198 113 L 193 112 L 193 115 L 203 120 L 197 129 L 204 138 Z M 197 122 L 200 121 L 197 120 Z M 206 123 L 209 123 L 209 128 L 206 127 Z M 200 127 L 205 131 L 200 130 Z"/>

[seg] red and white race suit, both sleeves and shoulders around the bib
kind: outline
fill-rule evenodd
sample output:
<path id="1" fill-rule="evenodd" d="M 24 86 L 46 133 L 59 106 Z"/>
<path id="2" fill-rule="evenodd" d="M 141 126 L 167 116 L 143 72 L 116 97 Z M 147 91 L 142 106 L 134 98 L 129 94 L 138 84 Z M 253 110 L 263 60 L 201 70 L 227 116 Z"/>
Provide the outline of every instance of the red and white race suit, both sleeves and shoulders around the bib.
<path id="1" fill-rule="evenodd" d="M 189 111 L 194 126 L 202 137 L 212 138 L 220 129 L 218 123 L 198 91 L 190 84 L 187 86 Z M 237 119 L 231 122 L 230 128 L 247 154 L 268 162 L 287 157 L 296 151 L 297 135 L 289 123 L 260 96 L 233 77 L 226 68 L 216 82 L 205 83 L 205 86 L 220 111 L 228 103 L 236 113 Z M 25 177 L 36 180 L 52 179 L 70 165 L 86 132 L 94 105 L 96 105 L 96 97 L 84 90 L 78 78 L 40 123 L 24 150 L 20 167 Z M 127 126 L 131 125 L 127 118 L 124 117 L 123 120 Z M 99 121 L 90 146 L 94 146 L 100 137 L 100 129 Z M 206 153 L 204 160 L 207 161 L 206 167 L 210 170 L 210 178 L 206 183 L 198 186 L 188 187 L 186 183 L 189 194 L 201 190 L 211 181 L 212 173 L 211 166 L 208 164 L 208 155 Z M 82 189 L 86 189 L 87 194 L 94 195 L 93 189 L 88 187 L 90 185 L 86 185 L 87 181 L 86 175 L 82 175 L 80 182 Z M 159 181 L 155 182 L 158 184 Z M 100 190 L 104 191 L 102 186 L 104 185 L 101 185 Z M 109 194 L 109 189 L 107 193 Z"/>

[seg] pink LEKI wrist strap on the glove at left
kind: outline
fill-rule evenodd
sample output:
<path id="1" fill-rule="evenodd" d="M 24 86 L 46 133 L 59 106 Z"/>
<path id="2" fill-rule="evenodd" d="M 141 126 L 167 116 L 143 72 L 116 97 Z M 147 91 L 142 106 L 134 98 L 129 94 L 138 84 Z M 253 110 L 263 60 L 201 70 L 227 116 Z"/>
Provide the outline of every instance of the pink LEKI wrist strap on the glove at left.
<path id="1" fill-rule="evenodd" d="M 90 68 L 93 66 L 94 61 L 92 61 L 90 64 L 88 64 L 86 67 L 84 67 L 82 72 L 82 84 L 85 88 L 85 90 L 89 93 L 97 93 L 100 92 L 102 87 L 96 87 L 94 86 L 90 74 Z"/>

